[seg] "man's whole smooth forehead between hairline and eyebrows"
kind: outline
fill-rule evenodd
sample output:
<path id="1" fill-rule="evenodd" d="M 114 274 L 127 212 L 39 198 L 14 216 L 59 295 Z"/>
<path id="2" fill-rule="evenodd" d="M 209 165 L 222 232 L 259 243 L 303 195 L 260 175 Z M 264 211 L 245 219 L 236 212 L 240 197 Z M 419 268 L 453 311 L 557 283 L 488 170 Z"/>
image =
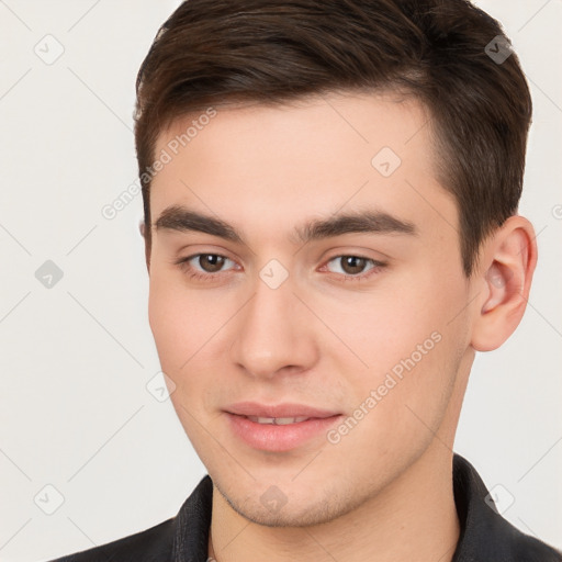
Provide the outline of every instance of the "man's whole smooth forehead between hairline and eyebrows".
<path id="1" fill-rule="evenodd" d="M 184 204 L 256 233 L 369 205 L 411 223 L 435 222 L 436 212 L 454 222 L 430 135 L 426 108 L 393 93 L 192 113 L 158 137 L 155 155 L 169 161 L 153 180 L 153 221 Z"/>

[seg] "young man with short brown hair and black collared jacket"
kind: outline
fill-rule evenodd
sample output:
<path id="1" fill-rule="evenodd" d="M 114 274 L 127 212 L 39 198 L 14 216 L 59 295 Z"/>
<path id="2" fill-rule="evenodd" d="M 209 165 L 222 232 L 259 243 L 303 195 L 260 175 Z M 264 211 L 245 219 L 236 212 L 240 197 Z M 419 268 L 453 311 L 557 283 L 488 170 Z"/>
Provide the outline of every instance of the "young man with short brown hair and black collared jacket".
<path id="1" fill-rule="evenodd" d="M 525 311 L 531 100 L 462 0 L 189 0 L 137 80 L 149 322 L 209 470 L 59 559 L 559 561 L 452 451 Z"/>

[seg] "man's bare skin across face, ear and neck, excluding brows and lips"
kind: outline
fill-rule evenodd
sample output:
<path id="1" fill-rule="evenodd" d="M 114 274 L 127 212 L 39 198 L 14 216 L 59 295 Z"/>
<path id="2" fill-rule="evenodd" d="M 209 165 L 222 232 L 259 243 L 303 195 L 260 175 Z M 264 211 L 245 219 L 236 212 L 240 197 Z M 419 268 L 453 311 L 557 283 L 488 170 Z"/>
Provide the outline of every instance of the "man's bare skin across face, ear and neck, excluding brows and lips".
<path id="1" fill-rule="evenodd" d="M 162 132 L 155 154 L 193 119 Z M 452 446 L 470 368 L 475 350 L 517 327 L 537 248 L 530 223 L 513 216 L 465 278 L 427 120 L 417 101 L 382 93 L 217 108 L 153 180 L 149 322 L 173 407 L 213 480 L 209 547 L 220 562 L 452 558 Z M 382 147 L 402 159 L 387 178 L 371 165 Z M 173 204 L 221 217 L 246 244 L 156 228 Z M 373 207 L 417 234 L 290 238 L 307 220 Z M 218 271 L 193 280 L 175 261 L 196 252 L 228 259 L 218 270 L 192 259 L 203 276 Z M 353 273 L 342 256 L 385 266 Z M 289 276 L 278 289 L 259 277 L 271 259 Z M 351 416 L 435 333 L 439 342 L 337 443 L 322 432 L 261 451 L 227 424 L 223 408 L 246 400 Z M 286 502 L 277 510 L 260 502 L 273 485 Z"/>

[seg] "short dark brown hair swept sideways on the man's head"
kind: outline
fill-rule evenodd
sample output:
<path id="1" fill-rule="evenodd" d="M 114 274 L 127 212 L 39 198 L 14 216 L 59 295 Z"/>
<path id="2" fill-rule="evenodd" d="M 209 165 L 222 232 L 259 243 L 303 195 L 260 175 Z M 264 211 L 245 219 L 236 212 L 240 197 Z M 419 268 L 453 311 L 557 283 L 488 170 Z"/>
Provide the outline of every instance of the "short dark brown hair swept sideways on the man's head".
<path id="1" fill-rule="evenodd" d="M 499 23 L 465 0 L 184 1 L 136 81 L 148 248 L 145 170 L 176 119 L 211 104 L 395 88 L 429 109 L 438 179 L 458 204 L 470 277 L 480 244 L 516 214 L 522 188 L 531 99 L 508 45 Z M 505 60 L 490 56 L 501 47 Z"/>

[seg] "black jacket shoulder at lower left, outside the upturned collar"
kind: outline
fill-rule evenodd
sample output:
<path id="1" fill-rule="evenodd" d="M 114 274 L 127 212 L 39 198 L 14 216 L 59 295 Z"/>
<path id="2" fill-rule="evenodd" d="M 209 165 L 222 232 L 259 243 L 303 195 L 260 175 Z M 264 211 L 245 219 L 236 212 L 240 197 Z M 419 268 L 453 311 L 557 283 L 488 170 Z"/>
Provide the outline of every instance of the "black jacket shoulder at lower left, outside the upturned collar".
<path id="1" fill-rule="evenodd" d="M 171 560 L 176 518 L 128 537 L 49 562 L 165 562 Z"/>

